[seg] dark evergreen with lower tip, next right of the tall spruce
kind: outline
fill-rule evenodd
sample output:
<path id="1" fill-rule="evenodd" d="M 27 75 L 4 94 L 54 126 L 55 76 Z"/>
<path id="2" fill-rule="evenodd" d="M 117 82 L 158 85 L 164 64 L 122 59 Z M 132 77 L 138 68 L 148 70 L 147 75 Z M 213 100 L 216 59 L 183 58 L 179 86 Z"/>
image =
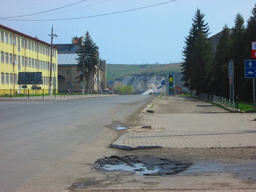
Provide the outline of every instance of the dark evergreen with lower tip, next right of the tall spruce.
<path id="1" fill-rule="evenodd" d="M 217 46 L 214 59 L 213 73 L 210 79 L 211 91 L 213 94 L 228 97 L 229 78 L 228 62 L 231 60 L 231 38 L 228 26 L 225 25 Z"/>

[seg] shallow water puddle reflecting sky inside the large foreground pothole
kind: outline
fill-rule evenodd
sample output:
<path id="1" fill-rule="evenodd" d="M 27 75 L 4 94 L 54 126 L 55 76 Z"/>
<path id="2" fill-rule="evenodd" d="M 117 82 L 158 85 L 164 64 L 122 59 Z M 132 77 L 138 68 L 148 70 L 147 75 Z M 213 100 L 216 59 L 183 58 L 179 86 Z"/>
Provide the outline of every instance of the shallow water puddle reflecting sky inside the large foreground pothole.
<path id="1" fill-rule="evenodd" d="M 105 170 L 108 171 L 114 171 L 114 170 L 120 170 L 120 171 L 132 171 L 137 175 L 143 175 L 143 174 L 149 174 L 149 173 L 157 173 L 161 169 L 155 167 L 154 170 L 148 170 L 148 168 L 145 166 L 145 164 L 123 164 L 123 165 L 100 165 L 104 167 Z"/>

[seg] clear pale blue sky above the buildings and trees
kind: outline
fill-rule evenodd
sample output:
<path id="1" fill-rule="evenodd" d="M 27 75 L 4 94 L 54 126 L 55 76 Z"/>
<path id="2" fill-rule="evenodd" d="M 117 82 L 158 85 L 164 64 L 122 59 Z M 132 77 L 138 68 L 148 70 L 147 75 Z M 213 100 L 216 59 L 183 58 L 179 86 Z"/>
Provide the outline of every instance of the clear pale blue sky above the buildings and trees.
<path id="1" fill-rule="evenodd" d="M 82 0 L 0 0 L 0 18 L 26 15 L 57 9 Z M 170 0 L 87 0 L 42 14 L 10 19 L 64 19 L 113 13 Z M 100 58 L 107 63 L 141 64 L 182 61 L 185 36 L 188 35 L 196 9 L 205 14 L 211 34 L 219 33 L 227 24 L 234 26 L 239 12 L 245 19 L 252 15 L 255 0 L 177 0 L 130 12 L 74 20 L 60 21 L 6 21 L 1 25 L 13 28 L 42 41 L 51 43 L 51 27 L 58 37 L 53 43 L 71 43 L 71 37 L 84 36 L 89 31 L 99 46 Z M 41 17 L 39 17 L 41 16 Z M 43 16 L 43 17 L 42 17 Z"/>

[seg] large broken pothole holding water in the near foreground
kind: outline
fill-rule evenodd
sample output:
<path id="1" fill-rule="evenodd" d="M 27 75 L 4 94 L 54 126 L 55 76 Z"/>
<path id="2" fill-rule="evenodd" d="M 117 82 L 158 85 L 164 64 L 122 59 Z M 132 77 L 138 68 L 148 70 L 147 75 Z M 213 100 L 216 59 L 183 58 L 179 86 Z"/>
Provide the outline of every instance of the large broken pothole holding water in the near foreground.
<path id="1" fill-rule="evenodd" d="M 106 171 L 132 171 L 138 175 L 170 175 L 187 170 L 191 163 L 158 158 L 154 155 L 110 156 L 95 162 L 98 169 Z"/>

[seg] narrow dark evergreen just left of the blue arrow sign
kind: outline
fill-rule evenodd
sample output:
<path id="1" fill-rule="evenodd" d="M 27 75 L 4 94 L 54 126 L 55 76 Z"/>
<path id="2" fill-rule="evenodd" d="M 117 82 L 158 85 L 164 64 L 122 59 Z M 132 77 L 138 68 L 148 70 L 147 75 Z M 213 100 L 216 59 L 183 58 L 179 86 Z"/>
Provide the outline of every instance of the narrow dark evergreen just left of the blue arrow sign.
<path id="1" fill-rule="evenodd" d="M 243 95 L 244 79 L 244 46 L 245 46 L 244 18 L 238 13 L 235 18 L 235 27 L 231 34 L 231 59 L 234 61 L 234 86 L 236 94 Z"/>

